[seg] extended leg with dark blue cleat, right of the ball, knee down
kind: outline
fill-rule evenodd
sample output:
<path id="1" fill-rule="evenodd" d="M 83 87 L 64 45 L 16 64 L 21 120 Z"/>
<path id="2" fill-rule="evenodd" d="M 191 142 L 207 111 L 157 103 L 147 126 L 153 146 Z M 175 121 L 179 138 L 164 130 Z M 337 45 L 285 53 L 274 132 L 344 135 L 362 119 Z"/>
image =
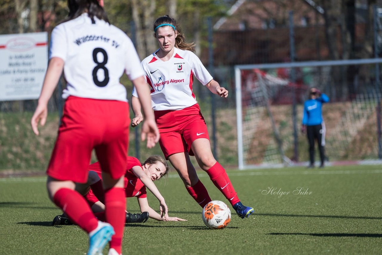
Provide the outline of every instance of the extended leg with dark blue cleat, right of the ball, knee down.
<path id="1" fill-rule="evenodd" d="M 212 154 L 210 141 L 206 138 L 196 139 L 191 148 L 201 169 L 207 172 L 214 185 L 227 198 L 238 216 L 244 218 L 253 213 L 252 207 L 244 206 L 240 202 L 227 173 Z"/>

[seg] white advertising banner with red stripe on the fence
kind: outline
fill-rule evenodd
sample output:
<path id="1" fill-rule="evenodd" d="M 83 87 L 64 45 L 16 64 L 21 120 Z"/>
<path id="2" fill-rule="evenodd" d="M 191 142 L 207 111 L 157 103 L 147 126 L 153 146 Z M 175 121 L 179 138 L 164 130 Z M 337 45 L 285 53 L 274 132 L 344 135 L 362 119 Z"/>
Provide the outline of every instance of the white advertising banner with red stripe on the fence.
<path id="1" fill-rule="evenodd" d="M 0 35 L 0 101 L 37 99 L 47 65 L 47 32 Z"/>

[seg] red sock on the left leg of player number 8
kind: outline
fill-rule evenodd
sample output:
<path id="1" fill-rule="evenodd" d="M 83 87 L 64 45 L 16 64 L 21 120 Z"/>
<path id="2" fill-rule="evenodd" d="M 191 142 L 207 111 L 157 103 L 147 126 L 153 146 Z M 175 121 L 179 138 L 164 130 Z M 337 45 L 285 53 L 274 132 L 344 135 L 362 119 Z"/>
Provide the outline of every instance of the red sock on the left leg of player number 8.
<path id="1" fill-rule="evenodd" d="M 87 233 L 98 226 L 98 221 L 90 210 L 86 200 L 78 192 L 69 188 L 60 188 L 53 197 L 54 203 Z"/>

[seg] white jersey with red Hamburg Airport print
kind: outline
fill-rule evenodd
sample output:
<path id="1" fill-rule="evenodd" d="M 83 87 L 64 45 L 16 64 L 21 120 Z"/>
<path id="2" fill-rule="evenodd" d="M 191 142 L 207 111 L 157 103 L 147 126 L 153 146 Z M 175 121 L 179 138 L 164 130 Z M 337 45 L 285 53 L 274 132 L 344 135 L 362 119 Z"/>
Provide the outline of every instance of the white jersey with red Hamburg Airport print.
<path id="1" fill-rule="evenodd" d="M 192 92 L 194 75 L 206 85 L 212 76 L 200 59 L 189 50 L 174 48 L 168 61 L 153 53 L 141 65 L 146 81 L 151 86 L 151 104 L 154 110 L 181 110 L 197 103 Z M 133 96 L 138 94 L 133 89 Z"/>

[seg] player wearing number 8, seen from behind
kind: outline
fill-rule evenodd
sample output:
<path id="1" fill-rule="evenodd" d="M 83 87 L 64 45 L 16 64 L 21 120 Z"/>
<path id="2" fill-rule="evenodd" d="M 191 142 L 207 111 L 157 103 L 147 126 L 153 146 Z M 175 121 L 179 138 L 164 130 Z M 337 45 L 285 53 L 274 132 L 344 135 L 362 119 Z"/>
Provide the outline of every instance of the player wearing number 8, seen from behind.
<path id="1" fill-rule="evenodd" d="M 134 45 L 108 22 L 102 6 L 102 0 L 68 0 L 68 18 L 52 31 L 50 62 L 31 125 L 38 135 L 38 123 L 45 124 L 47 103 L 64 71 L 66 102 L 47 169 L 49 197 L 89 233 L 87 254 L 102 254 L 111 239 L 109 254 L 114 255 L 121 254 L 126 215 L 123 177 L 130 120 L 126 89 L 119 82 L 123 72 L 144 109 L 142 138 L 147 136 L 147 147 L 155 145 L 159 132 Z M 102 168 L 108 223 L 97 221 L 84 197 L 74 190 L 76 183 L 87 180 L 93 148 Z"/>

